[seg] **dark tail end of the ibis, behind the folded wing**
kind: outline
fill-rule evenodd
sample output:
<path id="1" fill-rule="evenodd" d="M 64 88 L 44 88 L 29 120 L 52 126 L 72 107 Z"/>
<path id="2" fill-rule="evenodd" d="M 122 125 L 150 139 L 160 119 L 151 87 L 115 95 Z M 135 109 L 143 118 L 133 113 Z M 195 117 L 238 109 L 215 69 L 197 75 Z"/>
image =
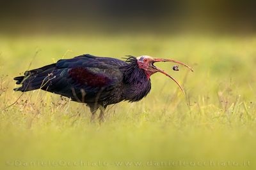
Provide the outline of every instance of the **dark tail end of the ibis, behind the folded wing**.
<path id="1" fill-rule="evenodd" d="M 38 69 L 26 71 L 24 76 L 13 78 L 17 85 L 21 87 L 15 88 L 15 91 L 27 92 L 30 90 L 41 89 L 49 85 L 49 80 L 53 76 L 52 72 L 56 69 L 56 64 L 47 65 Z"/>

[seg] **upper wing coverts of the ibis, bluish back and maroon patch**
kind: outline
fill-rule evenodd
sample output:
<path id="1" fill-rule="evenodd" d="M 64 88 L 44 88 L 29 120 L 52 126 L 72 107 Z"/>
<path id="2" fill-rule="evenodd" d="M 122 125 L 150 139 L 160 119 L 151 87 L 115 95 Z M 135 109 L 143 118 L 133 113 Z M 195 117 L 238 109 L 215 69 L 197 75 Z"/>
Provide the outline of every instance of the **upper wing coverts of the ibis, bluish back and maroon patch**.
<path id="1" fill-rule="evenodd" d="M 126 62 L 107 57 L 95 57 L 93 55 L 81 55 L 73 59 L 59 60 L 56 63 L 61 71 L 60 76 L 71 78 L 74 85 L 88 88 L 102 88 L 115 85 L 122 81 L 123 73 L 119 66 Z"/>

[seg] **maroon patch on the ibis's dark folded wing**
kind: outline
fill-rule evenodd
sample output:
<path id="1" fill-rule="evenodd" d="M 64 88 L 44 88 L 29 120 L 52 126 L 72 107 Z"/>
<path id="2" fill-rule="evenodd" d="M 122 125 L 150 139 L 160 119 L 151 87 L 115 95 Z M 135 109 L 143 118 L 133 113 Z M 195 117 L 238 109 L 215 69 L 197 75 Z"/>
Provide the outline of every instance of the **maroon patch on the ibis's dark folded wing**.
<path id="1" fill-rule="evenodd" d="M 90 87 L 103 87 L 107 85 L 111 80 L 104 74 L 95 74 L 92 71 L 84 67 L 72 68 L 68 71 L 68 74 L 82 85 L 89 85 Z"/>

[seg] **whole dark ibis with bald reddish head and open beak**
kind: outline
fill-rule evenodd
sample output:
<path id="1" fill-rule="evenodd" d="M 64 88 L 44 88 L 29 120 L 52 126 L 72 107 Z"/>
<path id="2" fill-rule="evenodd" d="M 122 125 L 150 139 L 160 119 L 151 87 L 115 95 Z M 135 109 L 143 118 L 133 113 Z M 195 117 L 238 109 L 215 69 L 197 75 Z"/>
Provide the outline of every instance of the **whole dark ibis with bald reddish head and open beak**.
<path id="1" fill-rule="evenodd" d="M 14 78 L 16 84 L 22 86 L 13 90 L 28 92 L 42 89 L 86 103 L 92 113 L 91 122 L 95 120 L 97 110 L 100 110 L 99 121 L 103 122 L 104 111 L 109 104 L 136 102 L 147 96 L 151 89 L 150 76 L 154 73 L 168 76 L 184 92 L 178 81 L 154 66 L 155 62 L 175 62 L 193 71 L 182 62 L 148 55 L 127 55 L 125 60 L 120 60 L 84 54 L 25 71 L 24 76 Z"/>

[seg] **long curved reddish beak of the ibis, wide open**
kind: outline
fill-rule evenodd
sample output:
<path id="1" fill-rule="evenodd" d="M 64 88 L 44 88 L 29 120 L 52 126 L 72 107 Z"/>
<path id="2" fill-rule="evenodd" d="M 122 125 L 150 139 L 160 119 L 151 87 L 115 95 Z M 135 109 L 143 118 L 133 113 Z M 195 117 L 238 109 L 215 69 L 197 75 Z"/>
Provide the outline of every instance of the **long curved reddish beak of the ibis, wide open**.
<path id="1" fill-rule="evenodd" d="M 164 75 L 168 76 L 168 77 L 171 78 L 173 81 L 175 81 L 175 83 L 177 83 L 177 85 L 179 85 L 180 90 L 182 90 L 182 93 L 184 94 L 184 90 L 182 89 L 180 83 L 179 83 L 177 80 L 175 80 L 175 78 L 173 78 L 172 76 L 170 76 L 169 74 L 167 74 L 165 71 L 163 71 L 162 69 L 159 69 L 159 68 L 157 68 L 156 66 L 154 66 L 154 62 L 175 62 L 175 63 L 180 64 L 180 65 L 182 65 L 182 66 L 188 67 L 191 71 L 193 71 L 193 69 L 192 69 L 191 67 L 189 67 L 187 64 L 184 64 L 184 63 L 182 63 L 182 62 L 179 62 L 179 61 L 176 61 L 176 60 L 172 60 L 172 59 L 156 59 L 156 58 L 155 58 L 155 59 L 152 60 L 152 67 L 153 67 L 154 69 L 156 69 L 157 72 L 163 73 Z"/>

